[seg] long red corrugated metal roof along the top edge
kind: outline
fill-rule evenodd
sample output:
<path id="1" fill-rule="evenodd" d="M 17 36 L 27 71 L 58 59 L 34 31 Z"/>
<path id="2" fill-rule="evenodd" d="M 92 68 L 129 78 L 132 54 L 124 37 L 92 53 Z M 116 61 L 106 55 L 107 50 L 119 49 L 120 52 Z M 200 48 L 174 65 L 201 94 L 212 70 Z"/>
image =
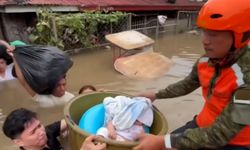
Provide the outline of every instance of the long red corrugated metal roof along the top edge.
<path id="1" fill-rule="evenodd" d="M 202 2 L 190 0 L 0 0 L 0 6 L 8 5 L 52 5 L 79 6 L 85 8 L 112 7 L 114 10 L 168 10 L 179 8 L 199 8 Z"/>

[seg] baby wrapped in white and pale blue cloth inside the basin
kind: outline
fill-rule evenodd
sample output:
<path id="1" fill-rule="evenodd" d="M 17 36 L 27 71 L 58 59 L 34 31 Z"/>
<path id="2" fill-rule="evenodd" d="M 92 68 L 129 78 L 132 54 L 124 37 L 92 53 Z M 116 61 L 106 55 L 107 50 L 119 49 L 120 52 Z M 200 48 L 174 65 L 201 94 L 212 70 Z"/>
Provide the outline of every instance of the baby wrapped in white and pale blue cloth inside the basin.
<path id="1" fill-rule="evenodd" d="M 97 135 L 117 141 L 136 141 L 145 126 L 153 123 L 151 101 L 145 97 L 129 98 L 126 96 L 106 97 L 104 126 Z"/>

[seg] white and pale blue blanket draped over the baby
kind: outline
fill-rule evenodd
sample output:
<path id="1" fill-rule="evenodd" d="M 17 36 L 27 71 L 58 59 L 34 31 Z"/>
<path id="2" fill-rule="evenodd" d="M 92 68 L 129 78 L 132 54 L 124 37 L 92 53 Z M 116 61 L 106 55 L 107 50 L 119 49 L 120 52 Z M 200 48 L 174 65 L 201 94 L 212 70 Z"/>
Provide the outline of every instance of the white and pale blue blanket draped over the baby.
<path id="1" fill-rule="evenodd" d="M 111 120 L 117 130 L 132 127 L 136 120 L 148 127 L 153 123 L 152 104 L 148 98 L 106 97 L 103 104 L 105 107 L 105 126 Z"/>

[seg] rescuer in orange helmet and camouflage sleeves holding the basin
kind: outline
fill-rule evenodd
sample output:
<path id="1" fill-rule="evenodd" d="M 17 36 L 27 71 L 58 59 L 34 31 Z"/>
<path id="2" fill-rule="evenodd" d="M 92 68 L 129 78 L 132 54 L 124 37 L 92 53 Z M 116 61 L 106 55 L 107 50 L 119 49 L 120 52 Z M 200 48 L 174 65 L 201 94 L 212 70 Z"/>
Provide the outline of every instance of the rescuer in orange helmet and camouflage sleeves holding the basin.
<path id="1" fill-rule="evenodd" d="M 142 135 L 134 150 L 250 149 L 250 0 L 208 0 L 197 26 L 205 55 L 191 73 L 163 90 L 140 95 L 154 101 L 201 87 L 201 112 L 171 134 Z"/>

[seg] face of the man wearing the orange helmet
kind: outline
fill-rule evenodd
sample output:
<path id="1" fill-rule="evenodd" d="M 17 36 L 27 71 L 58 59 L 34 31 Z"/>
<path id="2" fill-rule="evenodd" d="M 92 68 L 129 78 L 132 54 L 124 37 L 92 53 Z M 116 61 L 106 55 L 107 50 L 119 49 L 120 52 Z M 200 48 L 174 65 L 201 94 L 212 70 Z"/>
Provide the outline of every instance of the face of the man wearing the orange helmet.
<path id="1" fill-rule="evenodd" d="M 230 31 L 203 30 L 202 43 L 209 58 L 223 58 L 233 44 Z"/>

